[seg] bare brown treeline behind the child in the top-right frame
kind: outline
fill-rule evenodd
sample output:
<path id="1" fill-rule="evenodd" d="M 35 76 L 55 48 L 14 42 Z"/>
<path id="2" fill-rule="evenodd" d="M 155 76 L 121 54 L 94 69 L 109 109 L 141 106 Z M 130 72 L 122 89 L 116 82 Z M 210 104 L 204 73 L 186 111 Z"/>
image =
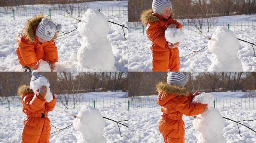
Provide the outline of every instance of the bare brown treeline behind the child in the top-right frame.
<path id="1" fill-rule="evenodd" d="M 143 10 L 152 7 L 153 0 L 129 0 L 129 22 L 140 21 Z M 256 0 L 170 0 L 175 19 L 211 18 L 256 13 Z"/>

